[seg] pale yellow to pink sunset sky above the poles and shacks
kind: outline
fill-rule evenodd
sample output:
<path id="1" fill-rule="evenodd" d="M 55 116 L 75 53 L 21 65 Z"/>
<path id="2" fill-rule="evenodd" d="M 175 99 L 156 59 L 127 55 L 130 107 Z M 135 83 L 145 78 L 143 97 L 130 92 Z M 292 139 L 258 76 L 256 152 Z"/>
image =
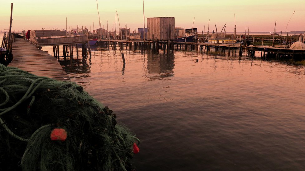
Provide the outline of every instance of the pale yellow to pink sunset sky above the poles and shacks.
<path id="1" fill-rule="evenodd" d="M 11 3 L 13 5 L 12 30 L 41 30 L 76 28 L 77 25 L 93 30 L 99 28 L 96 0 L 0 0 L 0 30 L 9 28 Z M 118 11 L 122 27 L 138 30 L 143 27 L 143 0 L 98 0 L 101 27 L 113 28 L 115 10 Z M 146 17 L 175 17 L 175 26 L 194 27 L 198 32 L 207 31 L 210 19 L 210 31 L 221 30 L 226 24 L 227 32 L 234 31 L 234 14 L 237 32 L 245 31 L 288 31 L 305 30 L 304 0 L 145 0 Z M 146 27 L 146 19 L 145 19 Z M 119 22 L 117 21 L 117 30 Z"/>

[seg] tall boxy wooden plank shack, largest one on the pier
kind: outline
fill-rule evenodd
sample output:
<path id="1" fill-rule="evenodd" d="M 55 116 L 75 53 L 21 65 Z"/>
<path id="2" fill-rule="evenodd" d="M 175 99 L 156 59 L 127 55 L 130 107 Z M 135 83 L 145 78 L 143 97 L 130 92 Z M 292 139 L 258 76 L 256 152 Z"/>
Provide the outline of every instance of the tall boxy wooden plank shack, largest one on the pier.
<path id="1" fill-rule="evenodd" d="M 175 37 L 175 17 L 147 18 L 148 40 L 173 40 Z"/>

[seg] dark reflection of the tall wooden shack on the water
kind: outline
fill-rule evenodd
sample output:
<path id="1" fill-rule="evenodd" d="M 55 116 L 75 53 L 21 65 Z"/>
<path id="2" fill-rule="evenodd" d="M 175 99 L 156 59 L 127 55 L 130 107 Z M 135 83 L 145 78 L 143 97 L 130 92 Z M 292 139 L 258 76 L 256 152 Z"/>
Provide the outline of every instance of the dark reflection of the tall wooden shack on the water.
<path id="1" fill-rule="evenodd" d="M 147 54 L 147 72 L 149 80 L 163 79 L 173 77 L 175 55 L 155 55 Z"/>

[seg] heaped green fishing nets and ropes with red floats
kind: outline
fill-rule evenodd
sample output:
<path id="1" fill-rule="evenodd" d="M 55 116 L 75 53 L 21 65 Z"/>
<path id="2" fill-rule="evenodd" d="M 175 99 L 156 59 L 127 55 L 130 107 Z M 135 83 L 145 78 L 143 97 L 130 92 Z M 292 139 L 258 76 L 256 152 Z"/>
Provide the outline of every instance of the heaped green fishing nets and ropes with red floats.
<path id="1" fill-rule="evenodd" d="M 0 64 L 0 170 L 132 170 L 139 140 L 80 85 Z"/>

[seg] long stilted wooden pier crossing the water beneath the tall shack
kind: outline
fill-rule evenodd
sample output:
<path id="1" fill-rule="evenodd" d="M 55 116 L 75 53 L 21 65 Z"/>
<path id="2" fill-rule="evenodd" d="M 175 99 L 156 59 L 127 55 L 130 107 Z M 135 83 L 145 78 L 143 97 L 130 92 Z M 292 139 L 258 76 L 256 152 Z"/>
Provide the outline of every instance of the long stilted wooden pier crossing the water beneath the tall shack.
<path id="1" fill-rule="evenodd" d="M 288 49 L 271 46 L 244 46 L 240 43 L 202 43 L 202 42 L 175 42 L 168 40 L 119 40 L 119 39 L 99 39 L 98 44 L 104 48 L 124 49 L 124 46 L 129 50 L 147 49 L 158 53 L 163 50 L 165 54 L 173 50 L 199 50 L 206 52 L 228 53 L 228 56 L 249 56 L 254 57 L 255 52 L 261 52 L 261 58 L 303 58 L 305 57 L 305 49 Z M 169 48 L 168 48 L 169 47 Z"/>

